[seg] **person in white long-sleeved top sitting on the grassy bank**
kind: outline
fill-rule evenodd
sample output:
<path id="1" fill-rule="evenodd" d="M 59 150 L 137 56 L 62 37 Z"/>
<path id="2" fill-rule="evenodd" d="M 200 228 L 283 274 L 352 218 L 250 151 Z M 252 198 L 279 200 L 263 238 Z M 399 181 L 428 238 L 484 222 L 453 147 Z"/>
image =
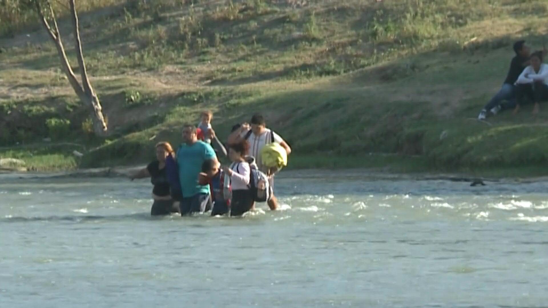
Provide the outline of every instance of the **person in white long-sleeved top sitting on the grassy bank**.
<path id="1" fill-rule="evenodd" d="M 539 113 L 541 101 L 548 101 L 548 65 L 543 64 L 543 52 L 531 55 L 531 65 L 527 66 L 516 81 L 517 105 L 514 113 L 520 110 L 525 96 L 532 98 L 535 107 L 533 114 Z"/>

